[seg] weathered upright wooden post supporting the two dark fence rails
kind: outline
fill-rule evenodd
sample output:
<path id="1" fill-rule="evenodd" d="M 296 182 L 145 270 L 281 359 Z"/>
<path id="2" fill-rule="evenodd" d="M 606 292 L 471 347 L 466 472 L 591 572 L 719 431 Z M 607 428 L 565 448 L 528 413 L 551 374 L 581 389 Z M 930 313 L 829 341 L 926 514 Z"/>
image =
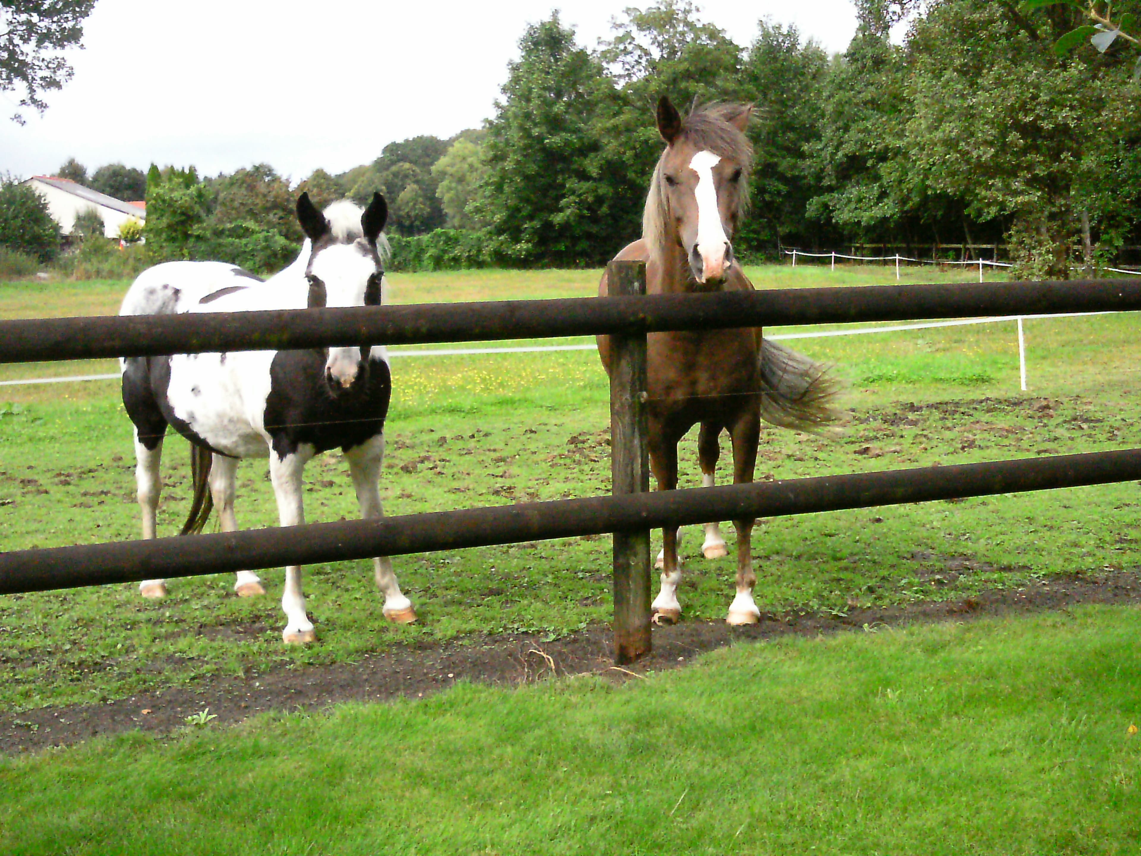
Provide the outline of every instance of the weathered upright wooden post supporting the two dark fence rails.
<path id="1" fill-rule="evenodd" d="M 646 263 L 612 261 L 613 297 L 646 293 Z M 646 333 L 610 337 L 610 475 L 614 494 L 649 491 Z M 650 651 L 649 530 L 614 533 L 614 659 Z"/>

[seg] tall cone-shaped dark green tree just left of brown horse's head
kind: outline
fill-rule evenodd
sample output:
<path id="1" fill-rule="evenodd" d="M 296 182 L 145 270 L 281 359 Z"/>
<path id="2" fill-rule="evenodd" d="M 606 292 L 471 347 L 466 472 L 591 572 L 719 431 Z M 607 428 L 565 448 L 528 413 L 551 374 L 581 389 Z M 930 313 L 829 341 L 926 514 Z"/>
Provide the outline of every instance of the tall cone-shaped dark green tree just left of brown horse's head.
<path id="1" fill-rule="evenodd" d="M 476 213 L 521 259 L 598 263 L 637 237 L 623 218 L 631 188 L 602 140 L 614 84 L 558 13 L 528 26 L 519 48 L 487 126 Z"/>

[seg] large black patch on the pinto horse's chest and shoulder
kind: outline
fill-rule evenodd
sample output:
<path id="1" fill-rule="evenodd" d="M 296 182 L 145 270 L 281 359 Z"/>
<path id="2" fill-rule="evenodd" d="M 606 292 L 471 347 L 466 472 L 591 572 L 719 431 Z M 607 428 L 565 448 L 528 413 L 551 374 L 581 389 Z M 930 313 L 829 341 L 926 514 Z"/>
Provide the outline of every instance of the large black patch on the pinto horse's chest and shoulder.
<path id="1" fill-rule="evenodd" d="M 274 356 L 265 426 L 278 458 L 306 443 L 318 453 L 349 450 L 383 430 L 393 393 L 388 363 L 369 360 L 353 387 L 338 396 L 325 385 L 324 373 L 323 350 L 280 350 Z"/>

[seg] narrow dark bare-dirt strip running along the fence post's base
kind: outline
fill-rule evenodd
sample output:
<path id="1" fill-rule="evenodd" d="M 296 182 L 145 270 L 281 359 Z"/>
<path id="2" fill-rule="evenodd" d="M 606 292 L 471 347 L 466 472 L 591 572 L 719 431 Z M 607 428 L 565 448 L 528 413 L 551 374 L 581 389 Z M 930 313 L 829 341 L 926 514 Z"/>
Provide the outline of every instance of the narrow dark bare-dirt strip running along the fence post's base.
<path id="1" fill-rule="evenodd" d="M 0 713 L 0 752 L 35 751 L 136 728 L 167 734 L 185 726 L 186 717 L 205 708 L 217 714 L 213 720 L 217 725 L 230 725 L 268 710 L 420 697 L 458 680 L 512 686 L 582 672 L 629 680 L 631 672 L 675 669 L 697 654 L 741 640 L 816 636 L 865 625 L 961 621 L 1062 609 L 1077 604 L 1141 604 L 1141 574 L 1130 571 L 1098 578 L 1054 578 L 1025 589 L 884 609 L 853 609 L 847 616 L 768 615 L 750 628 L 729 628 L 722 622 L 682 622 L 655 629 L 653 654 L 629 670 L 613 667 L 610 631 L 604 625 L 550 643 L 541 641 L 537 636 L 518 635 L 405 646 L 366 654 L 354 665 L 283 667 L 244 678 L 218 677 L 193 687 L 173 687 L 106 704 Z"/>

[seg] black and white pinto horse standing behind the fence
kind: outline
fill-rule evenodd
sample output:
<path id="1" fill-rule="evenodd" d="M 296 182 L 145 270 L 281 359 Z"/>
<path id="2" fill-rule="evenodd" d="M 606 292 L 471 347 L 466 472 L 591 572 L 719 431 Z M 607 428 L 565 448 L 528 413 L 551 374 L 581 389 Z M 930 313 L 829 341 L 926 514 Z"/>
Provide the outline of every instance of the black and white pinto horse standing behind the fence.
<path id="1" fill-rule="evenodd" d="M 139 275 L 120 315 L 379 306 L 387 252 L 383 197 L 374 194 L 367 210 L 342 201 L 322 213 L 301 194 L 297 212 L 309 240 L 297 261 L 268 281 L 222 263 L 167 263 Z M 201 532 L 211 506 L 218 507 L 224 532 L 237 528 L 234 482 L 243 458 L 269 458 L 281 525 L 304 524 L 302 469 L 314 455 L 338 446 L 348 460 L 362 516 L 382 516 L 378 481 L 391 395 L 383 347 L 131 357 L 122 361 L 122 372 L 123 404 L 135 423 L 143 538 L 155 536 L 168 426 L 192 444 L 194 501 L 183 534 Z M 385 616 L 415 621 L 388 558 L 375 559 L 375 576 Z M 237 573 L 234 589 L 244 597 L 265 593 L 251 571 Z M 167 593 L 163 580 L 147 580 L 139 590 L 149 598 Z M 285 568 L 282 608 L 286 643 L 316 638 L 299 566 Z"/>

